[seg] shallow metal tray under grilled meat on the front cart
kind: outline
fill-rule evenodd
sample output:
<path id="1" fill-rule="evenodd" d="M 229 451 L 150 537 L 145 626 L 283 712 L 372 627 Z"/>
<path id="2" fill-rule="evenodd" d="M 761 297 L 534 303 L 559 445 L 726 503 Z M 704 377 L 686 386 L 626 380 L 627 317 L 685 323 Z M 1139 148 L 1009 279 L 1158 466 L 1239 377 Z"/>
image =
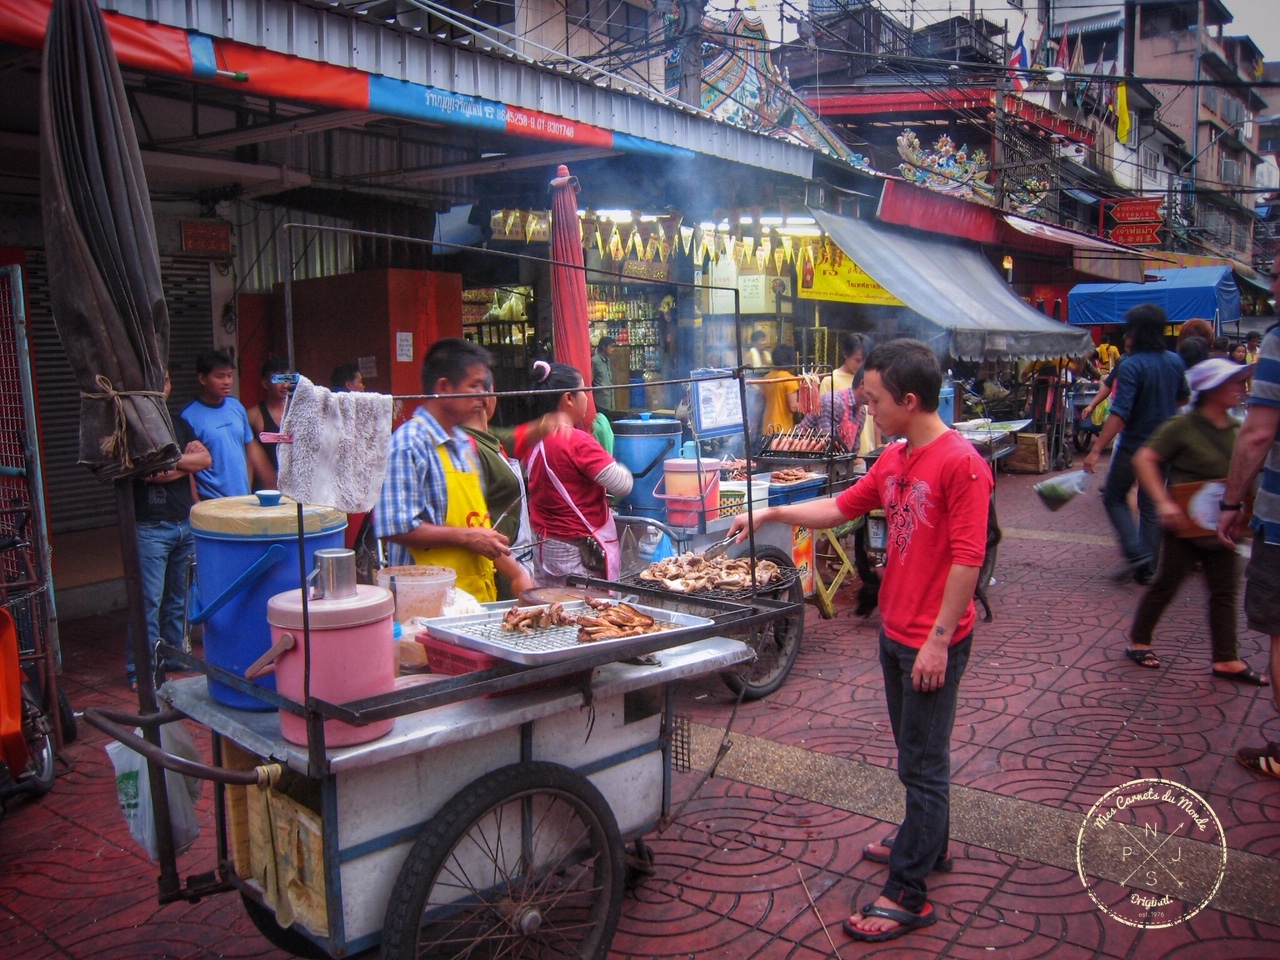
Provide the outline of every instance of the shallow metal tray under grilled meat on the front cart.
<path id="1" fill-rule="evenodd" d="M 585 602 L 564 603 L 561 605 L 566 613 L 577 614 L 590 612 L 590 607 Z M 714 623 L 714 621 L 707 617 L 694 617 L 687 613 L 658 609 L 657 607 L 641 607 L 636 603 L 628 605 L 641 613 L 649 614 L 659 623 L 669 623 L 671 626 L 662 631 L 662 635 L 675 641 L 672 646 L 680 645 L 682 628 L 707 627 Z M 596 653 L 614 646 L 625 646 L 653 636 L 653 634 L 641 634 L 640 636 L 621 636 L 613 640 L 596 640 L 590 644 L 580 644 L 577 641 L 576 625 L 547 627 L 544 630 L 530 631 L 529 634 L 508 632 L 502 628 L 502 618 L 508 609 L 511 609 L 509 604 L 500 611 L 472 613 L 466 617 L 439 617 L 428 621 L 426 632 L 436 640 L 444 640 L 445 643 L 463 646 L 467 650 L 477 650 L 490 657 L 498 657 L 512 663 L 524 663 L 530 667 L 544 663 L 562 663 L 588 652 Z M 522 609 L 536 609 L 536 607 L 525 607 Z"/>

